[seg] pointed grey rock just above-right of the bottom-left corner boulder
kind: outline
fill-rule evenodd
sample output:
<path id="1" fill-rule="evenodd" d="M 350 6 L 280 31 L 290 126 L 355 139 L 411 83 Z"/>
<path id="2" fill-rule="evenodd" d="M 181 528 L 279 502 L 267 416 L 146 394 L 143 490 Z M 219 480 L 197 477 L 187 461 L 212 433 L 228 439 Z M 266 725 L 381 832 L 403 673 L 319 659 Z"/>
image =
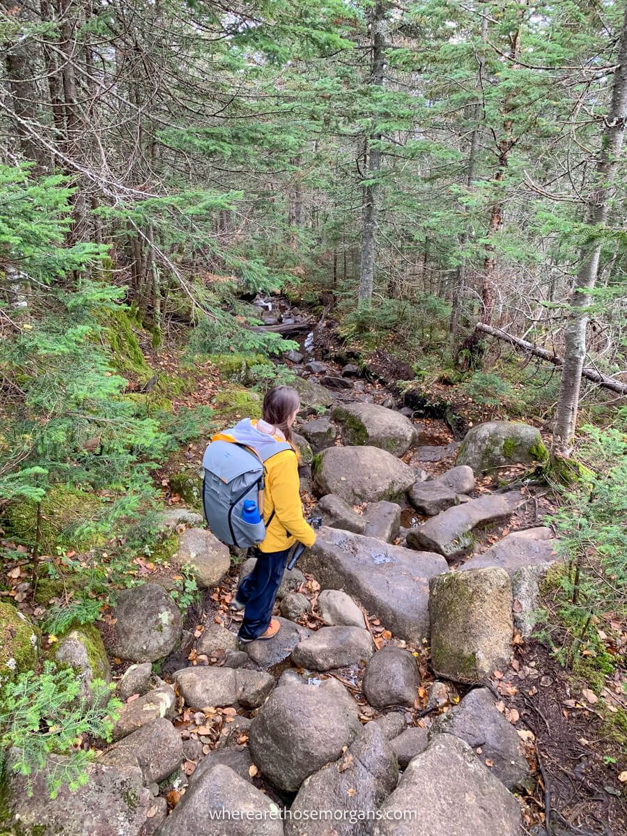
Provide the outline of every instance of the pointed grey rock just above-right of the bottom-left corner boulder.
<path id="1" fill-rule="evenodd" d="M 181 766 L 181 735 L 169 720 L 161 717 L 124 737 L 104 752 L 100 762 L 139 767 L 146 784 L 163 781 Z"/>

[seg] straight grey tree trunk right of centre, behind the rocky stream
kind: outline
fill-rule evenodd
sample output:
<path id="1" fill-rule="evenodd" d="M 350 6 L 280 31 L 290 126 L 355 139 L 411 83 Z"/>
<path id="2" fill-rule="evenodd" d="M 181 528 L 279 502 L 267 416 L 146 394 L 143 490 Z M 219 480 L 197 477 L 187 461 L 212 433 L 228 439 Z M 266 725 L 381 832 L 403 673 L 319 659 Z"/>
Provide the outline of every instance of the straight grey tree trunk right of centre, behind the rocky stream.
<path id="1" fill-rule="evenodd" d="M 370 82 L 375 87 L 383 86 L 385 61 L 384 19 L 386 2 L 375 3 L 370 13 Z M 368 155 L 366 185 L 362 202 L 361 216 L 361 257 L 359 261 L 359 305 L 369 306 L 372 301 L 372 288 L 375 278 L 375 245 L 377 217 L 379 213 L 378 182 L 381 169 L 381 151 L 378 146 L 380 134 L 370 135 L 365 147 Z"/>

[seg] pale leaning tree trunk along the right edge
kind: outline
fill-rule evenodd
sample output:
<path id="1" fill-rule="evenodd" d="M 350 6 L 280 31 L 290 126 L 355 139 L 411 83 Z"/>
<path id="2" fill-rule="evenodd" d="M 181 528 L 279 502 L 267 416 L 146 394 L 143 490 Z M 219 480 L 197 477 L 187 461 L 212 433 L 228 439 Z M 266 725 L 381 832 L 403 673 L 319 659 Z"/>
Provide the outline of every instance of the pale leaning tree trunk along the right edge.
<path id="1" fill-rule="evenodd" d="M 599 259 L 603 238 L 601 232 L 608 217 L 612 183 L 623 146 L 624 125 L 627 119 L 627 8 L 619 41 L 618 69 L 614 73 L 612 99 L 604 120 L 601 151 L 594 176 L 593 191 L 589 196 L 589 236 L 580 252 L 579 273 L 575 278 L 570 298 L 568 324 L 564 331 L 564 362 L 559 386 L 558 409 L 553 431 L 553 451 L 568 454 L 573 445 L 581 370 L 586 356 L 586 328 L 591 292 L 599 273 Z"/>

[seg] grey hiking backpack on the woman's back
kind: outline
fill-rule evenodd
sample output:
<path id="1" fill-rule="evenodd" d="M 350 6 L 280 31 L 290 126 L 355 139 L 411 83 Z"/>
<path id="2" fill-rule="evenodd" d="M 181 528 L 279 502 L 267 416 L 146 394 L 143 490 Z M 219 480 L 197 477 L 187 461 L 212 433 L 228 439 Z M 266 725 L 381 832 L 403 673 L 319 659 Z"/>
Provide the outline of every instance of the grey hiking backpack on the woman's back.
<path id="1" fill-rule="evenodd" d="M 264 445 L 267 446 L 267 445 Z M 212 533 L 227 546 L 257 546 L 266 536 L 263 523 L 264 462 L 283 450 L 292 450 L 287 441 L 277 441 L 259 456 L 251 447 L 237 441 L 212 441 L 202 459 L 202 507 Z M 257 503 L 260 523 L 242 519 L 244 502 Z M 271 523 L 274 512 L 268 519 Z"/>

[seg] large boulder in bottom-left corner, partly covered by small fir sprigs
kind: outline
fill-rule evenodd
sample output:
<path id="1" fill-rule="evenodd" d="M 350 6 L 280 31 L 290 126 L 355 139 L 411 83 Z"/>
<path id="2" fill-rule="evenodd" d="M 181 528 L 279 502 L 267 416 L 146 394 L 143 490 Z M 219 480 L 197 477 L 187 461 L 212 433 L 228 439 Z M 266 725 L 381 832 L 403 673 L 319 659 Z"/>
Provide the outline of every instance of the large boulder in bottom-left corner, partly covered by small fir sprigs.
<path id="1" fill-rule="evenodd" d="M 12 749 L 5 762 L 0 832 L 38 836 L 138 836 L 153 804 L 138 767 L 107 766 L 99 760 L 85 767 L 88 781 L 71 791 L 67 783 L 50 798 L 48 772 L 63 775 L 68 757 L 51 755 L 48 768 L 26 776 L 13 771 L 22 752 Z"/>

